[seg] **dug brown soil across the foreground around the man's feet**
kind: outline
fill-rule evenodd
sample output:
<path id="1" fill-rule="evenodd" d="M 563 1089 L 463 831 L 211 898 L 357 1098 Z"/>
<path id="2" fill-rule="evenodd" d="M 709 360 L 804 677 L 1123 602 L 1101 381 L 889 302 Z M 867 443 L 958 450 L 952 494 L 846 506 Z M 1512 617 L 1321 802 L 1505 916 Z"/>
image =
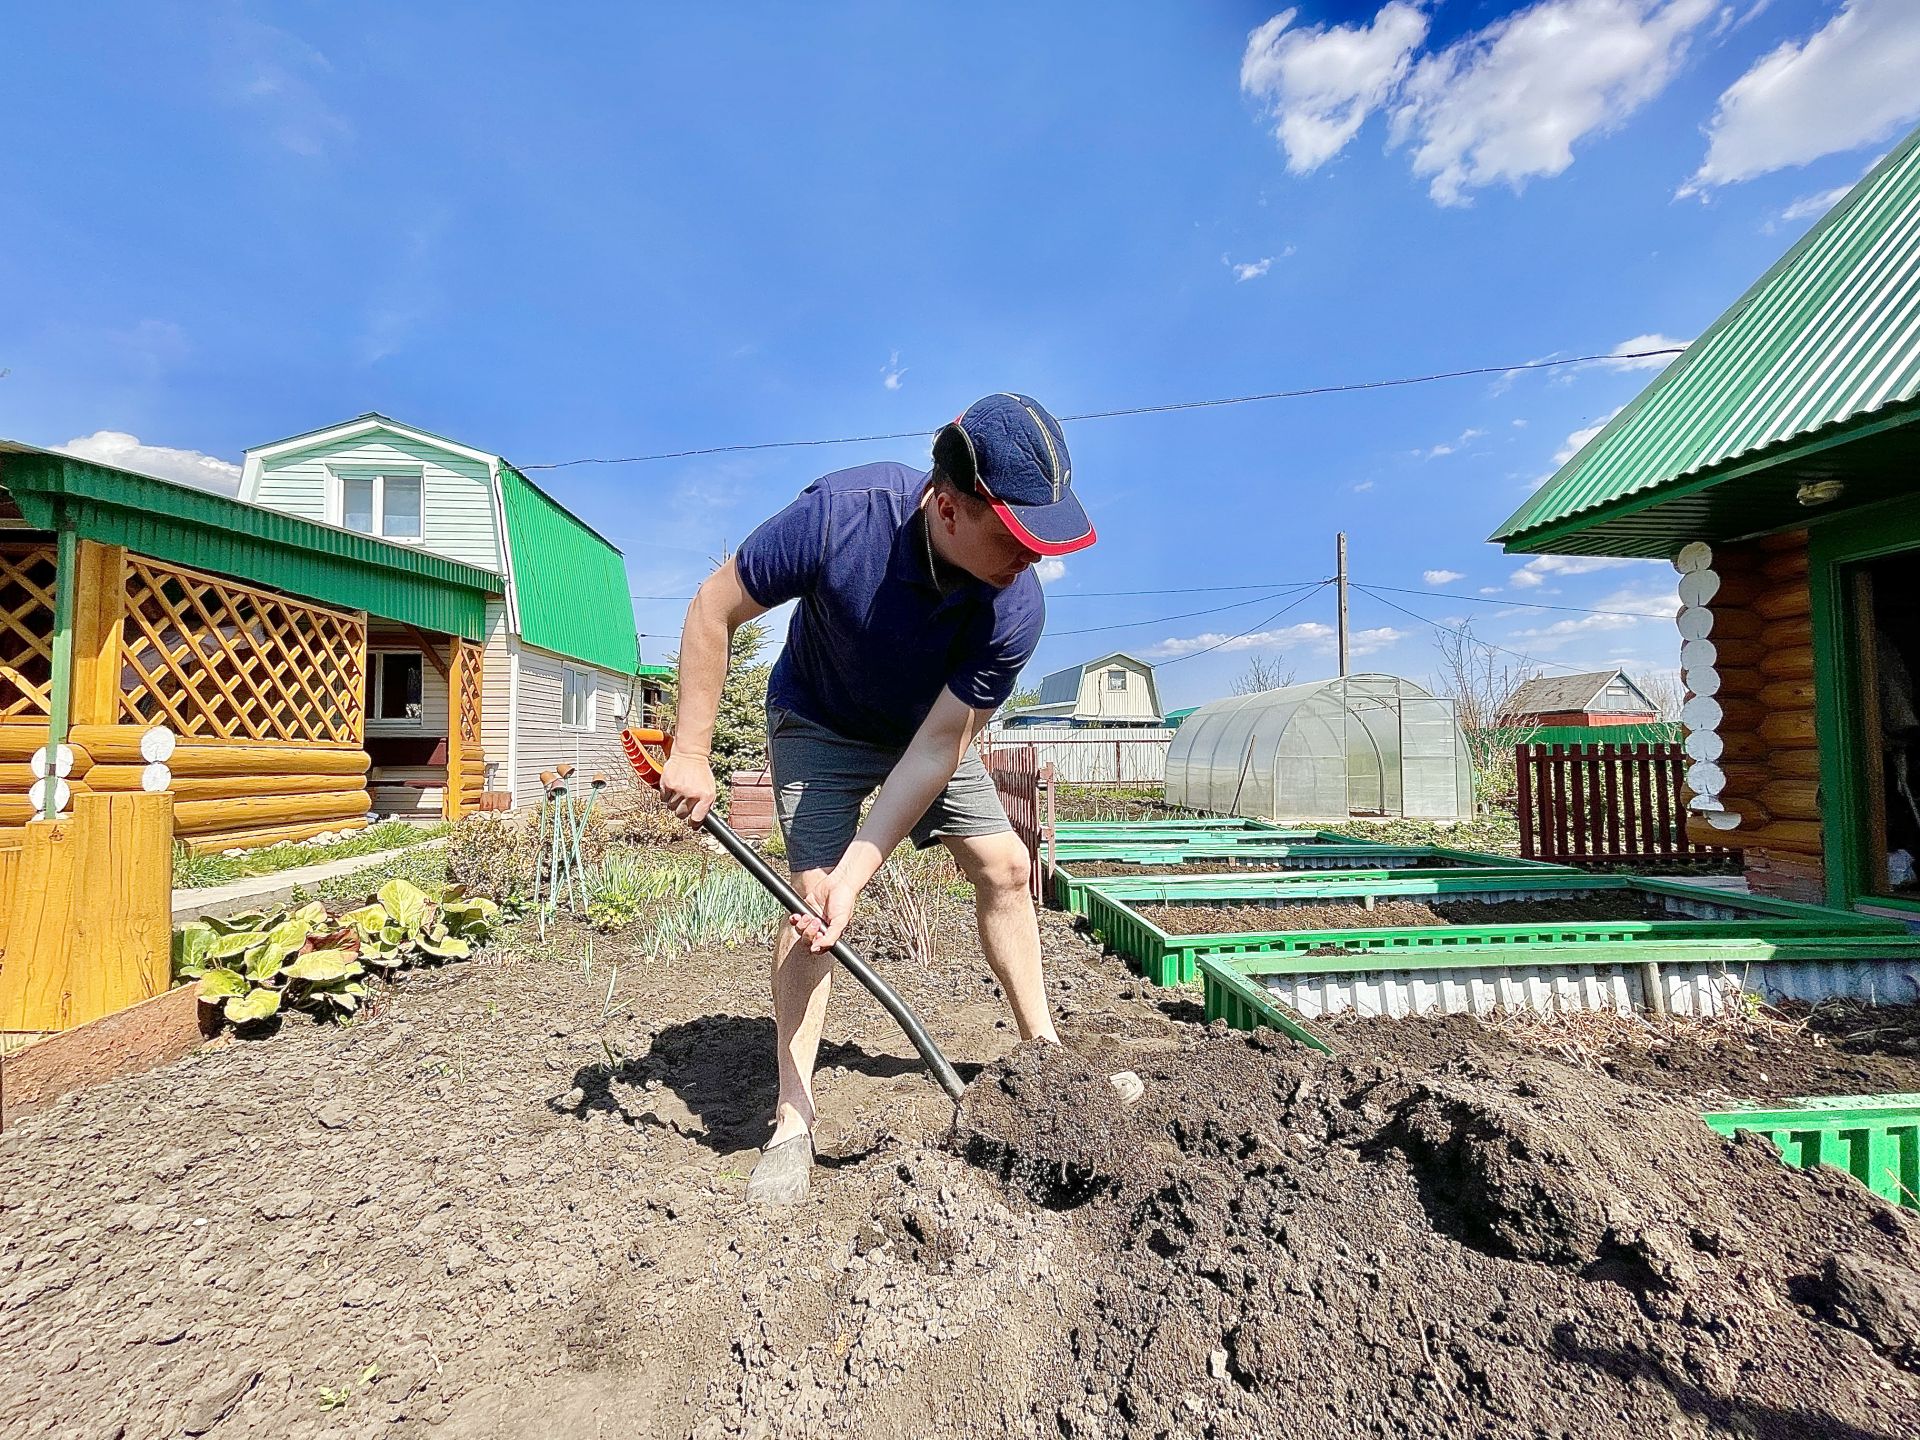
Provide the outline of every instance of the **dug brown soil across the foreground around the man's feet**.
<path id="1" fill-rule="evenodd" d="M 1327 1058 L 1043 924 L 1066 1052 L 1014 1046 L 964 937 L 870 947 L 975 1083 L 954 1123 L 841 983 L 791 1212 L 739 1200 L 758 945 L 520 935 L 69 1096 L 0 1137 L 0 1434 L 1920 1432 L 1920 1221 L 1690 1092 L 1812 1025 L 1697 1031 L 1692 1069 L 1626 1021 Z"/>

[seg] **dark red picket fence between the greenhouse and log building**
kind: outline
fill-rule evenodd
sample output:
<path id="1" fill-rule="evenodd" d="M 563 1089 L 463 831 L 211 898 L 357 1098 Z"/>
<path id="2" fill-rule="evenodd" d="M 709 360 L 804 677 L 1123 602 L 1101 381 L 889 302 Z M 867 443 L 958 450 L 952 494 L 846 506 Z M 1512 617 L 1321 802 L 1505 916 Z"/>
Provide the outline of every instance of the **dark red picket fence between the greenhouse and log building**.
<path id="1" fill-rule="evenodd" d="M 1738 854 L 1688 839 L 1678 745 L 1515 745 L 1513 768 L 1528 860 L 1668 866 Z"/>

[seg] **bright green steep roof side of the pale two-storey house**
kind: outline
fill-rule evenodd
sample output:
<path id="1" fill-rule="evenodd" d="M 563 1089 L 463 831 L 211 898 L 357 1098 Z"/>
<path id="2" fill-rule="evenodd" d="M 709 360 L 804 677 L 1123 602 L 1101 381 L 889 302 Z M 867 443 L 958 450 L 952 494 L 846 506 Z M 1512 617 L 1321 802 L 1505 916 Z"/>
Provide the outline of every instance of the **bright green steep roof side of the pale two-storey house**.
<path id="1" fill-rule="evenodd" d="M 639 636 L 620 551 L 505 461 L 499 488 L 520 639 L 634 674 Z"/>

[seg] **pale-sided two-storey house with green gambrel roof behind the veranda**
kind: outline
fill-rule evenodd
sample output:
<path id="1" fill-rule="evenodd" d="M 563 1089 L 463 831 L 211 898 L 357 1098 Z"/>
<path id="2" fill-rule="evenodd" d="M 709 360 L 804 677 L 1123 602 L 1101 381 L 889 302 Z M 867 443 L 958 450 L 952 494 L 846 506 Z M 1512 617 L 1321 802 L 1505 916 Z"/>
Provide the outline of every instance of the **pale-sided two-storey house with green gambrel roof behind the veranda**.
<path id="1" fill-rule="evenodd" d="M 361 415 L 246 453 L 240 499 L 499 576 L 482 636 L 488 793 L 538 803 L 568 762 L 626 774 L 620 730 L 659 699 L 639 664 L 620 551 L 499 455 Z M 369 791 L 380 814 L 438 814 L 453 670 L 430 637 L 367 634 Z M 630 718 L 632 716 L 632 718 Z"/>

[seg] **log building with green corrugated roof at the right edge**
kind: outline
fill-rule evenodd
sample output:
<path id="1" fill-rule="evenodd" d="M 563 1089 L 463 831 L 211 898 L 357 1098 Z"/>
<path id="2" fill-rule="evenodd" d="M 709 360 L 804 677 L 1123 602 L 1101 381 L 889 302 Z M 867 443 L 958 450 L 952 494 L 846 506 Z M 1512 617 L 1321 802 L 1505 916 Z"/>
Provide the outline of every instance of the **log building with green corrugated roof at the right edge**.
<path id="1" fill-rule="evenodd" d="M 1670 559 L 1692 831 L 1920 922 L 1920 131 L 1494 536 Z"/>

